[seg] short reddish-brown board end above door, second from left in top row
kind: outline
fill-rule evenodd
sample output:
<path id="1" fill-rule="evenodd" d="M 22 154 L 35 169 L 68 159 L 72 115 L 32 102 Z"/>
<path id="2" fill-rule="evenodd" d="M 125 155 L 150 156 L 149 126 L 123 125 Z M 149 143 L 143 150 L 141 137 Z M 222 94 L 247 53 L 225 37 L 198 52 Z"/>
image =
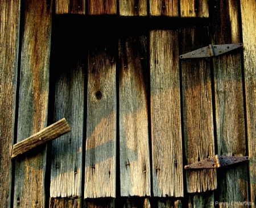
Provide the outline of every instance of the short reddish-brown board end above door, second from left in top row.
<path id="1" fill-rule="evenodd" d="M 117 14 L 117 0 L 88 0 L 88 14 Z"/>

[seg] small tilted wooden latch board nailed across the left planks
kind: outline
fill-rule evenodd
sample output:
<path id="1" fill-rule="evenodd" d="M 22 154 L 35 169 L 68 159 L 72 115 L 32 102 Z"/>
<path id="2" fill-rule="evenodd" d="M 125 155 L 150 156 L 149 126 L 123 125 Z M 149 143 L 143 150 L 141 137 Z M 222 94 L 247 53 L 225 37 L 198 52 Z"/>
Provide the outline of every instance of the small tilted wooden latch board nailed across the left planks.
<path id="1" fill-rule="evenodd" d="M 67 120 L 65 118 L 60 119 L 29 138 L 14 144 L 11 158 L 27 152 L 40 144 L 44 144 L 50 140 L 56 139 L 69 131 L 71 131 L 71 127 L 69 127 Z"/>

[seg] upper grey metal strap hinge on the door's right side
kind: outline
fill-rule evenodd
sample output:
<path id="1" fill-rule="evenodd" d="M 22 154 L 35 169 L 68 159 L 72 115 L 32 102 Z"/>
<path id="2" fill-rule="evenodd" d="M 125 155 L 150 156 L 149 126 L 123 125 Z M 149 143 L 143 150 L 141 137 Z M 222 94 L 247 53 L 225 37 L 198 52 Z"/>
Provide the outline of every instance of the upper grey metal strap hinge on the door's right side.
<path id="1" fill-rule="evenodd" d="M 203 58 L 210 56 L 218 56 L 223 53 L 232 51 L 233 49 L 242 47 L 242 43 L 225 44 L 225 45 L 212 45 L 206 46 L 204 48 L 197 49 L 192 52 L 180 55 L 180 59 L 191 59 L 191 58 Z"/>

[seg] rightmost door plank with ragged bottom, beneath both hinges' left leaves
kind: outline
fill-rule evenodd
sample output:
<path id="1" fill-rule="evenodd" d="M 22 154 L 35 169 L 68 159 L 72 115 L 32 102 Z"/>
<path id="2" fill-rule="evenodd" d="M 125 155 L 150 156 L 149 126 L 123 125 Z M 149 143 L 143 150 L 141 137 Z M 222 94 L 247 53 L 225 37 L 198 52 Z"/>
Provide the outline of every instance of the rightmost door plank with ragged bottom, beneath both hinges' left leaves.
<path id="1" fill-rule="evenodd" d="M 208 37 L 208 27 L 181 28 L 181 54 L 205 47 Z M 191 164 L 215 155 L 210 61 L 182 60 L 181 71 L 185 161 Z M 186 181 L 188 193 L 216 189 L 216 169 L 187 170 Z"/>

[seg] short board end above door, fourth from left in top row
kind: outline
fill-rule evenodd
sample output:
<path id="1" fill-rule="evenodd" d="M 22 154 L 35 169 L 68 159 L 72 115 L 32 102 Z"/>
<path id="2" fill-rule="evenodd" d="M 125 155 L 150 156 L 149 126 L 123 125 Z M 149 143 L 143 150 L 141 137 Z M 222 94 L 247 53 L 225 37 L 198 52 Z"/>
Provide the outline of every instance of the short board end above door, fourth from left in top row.
<path id="1" fill-rule="evenodd" d="M 150 16 L 179 16 L 178 0 L 149 0 Z"/>

